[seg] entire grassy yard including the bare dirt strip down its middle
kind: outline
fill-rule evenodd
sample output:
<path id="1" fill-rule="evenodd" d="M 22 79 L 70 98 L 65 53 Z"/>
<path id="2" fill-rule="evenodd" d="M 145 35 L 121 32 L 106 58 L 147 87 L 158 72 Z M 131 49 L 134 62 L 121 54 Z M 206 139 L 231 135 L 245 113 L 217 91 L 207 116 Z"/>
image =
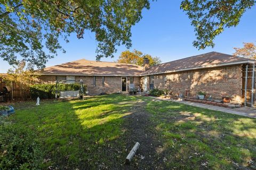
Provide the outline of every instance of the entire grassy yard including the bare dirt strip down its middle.
<path id="1" fill-rule="evenodd" d="M 256 168 L 253 118 L 126 95 L 32 105 L 16 104 L 8 119 L 35 134 L 42 169 Z"/>

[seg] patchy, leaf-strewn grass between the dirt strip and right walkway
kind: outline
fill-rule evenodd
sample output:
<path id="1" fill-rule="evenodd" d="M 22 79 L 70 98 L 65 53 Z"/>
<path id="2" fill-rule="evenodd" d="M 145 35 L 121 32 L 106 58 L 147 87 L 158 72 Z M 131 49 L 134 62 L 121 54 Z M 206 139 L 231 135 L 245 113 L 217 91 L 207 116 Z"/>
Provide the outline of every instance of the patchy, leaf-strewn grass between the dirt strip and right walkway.
<path id="1" fill-rule="evenodd" d="M 255 119 L 171 101 L 150 101 L 146 109 L 163 141 L 166 167 L 255 168 Z"/>

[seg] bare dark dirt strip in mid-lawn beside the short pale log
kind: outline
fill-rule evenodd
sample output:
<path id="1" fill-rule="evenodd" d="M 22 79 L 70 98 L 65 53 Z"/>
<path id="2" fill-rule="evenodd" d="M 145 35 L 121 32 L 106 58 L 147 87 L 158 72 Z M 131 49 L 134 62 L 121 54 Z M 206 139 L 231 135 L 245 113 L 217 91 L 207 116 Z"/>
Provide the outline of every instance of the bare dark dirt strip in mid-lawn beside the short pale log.
<path id="1" fill-rule="evenodd" d="M 161 164 L 164 158 L 157 154 L 157 150 L 162 148 L 162 142 L 157 138 L 154 129 L 155 123 L 150 120 L 151 114 L 145 111 L 145 105 L 145 101 L 137 102 L 131 107 L 132 114 L 125 117 L 127 153 L 132 149 L 135 142 L 139 142 L 140 147 L 131 164 L 126 164 L 124 169 L 163 169 Z"/>

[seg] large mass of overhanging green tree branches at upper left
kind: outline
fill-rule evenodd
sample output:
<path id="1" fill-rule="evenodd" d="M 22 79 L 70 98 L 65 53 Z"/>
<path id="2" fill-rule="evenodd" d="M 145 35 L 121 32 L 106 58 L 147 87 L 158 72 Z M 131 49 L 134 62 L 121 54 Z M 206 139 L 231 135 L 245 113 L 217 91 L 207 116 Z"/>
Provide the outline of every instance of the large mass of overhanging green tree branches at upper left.
<path id="1" fill-rule="evenodd" d="M 0 0 L 0 57 L 10 65 L 21 57 L 38 68 L 68 42 L 71 33 L 95 33 L 97 60 L 113 57 L 115 46 L 131 47 L 131 27 L 142 18 L 148 0 Z"/>

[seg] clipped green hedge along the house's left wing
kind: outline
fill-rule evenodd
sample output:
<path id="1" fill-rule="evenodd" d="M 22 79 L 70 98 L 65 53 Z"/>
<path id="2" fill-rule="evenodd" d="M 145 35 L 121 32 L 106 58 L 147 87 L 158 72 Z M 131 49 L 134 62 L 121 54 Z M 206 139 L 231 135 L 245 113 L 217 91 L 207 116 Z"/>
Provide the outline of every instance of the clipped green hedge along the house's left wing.
<path id="1" fill-rule="evenodd" d="M 58 96 L 60 91 L 80 90 L 81 84 L 58 84 Z M 52 99 L 55 98 L 56 84 L 35 84 L 29 87 L 31 98 Z M 84 92 L 86 86 L 84 85 Z"/>

